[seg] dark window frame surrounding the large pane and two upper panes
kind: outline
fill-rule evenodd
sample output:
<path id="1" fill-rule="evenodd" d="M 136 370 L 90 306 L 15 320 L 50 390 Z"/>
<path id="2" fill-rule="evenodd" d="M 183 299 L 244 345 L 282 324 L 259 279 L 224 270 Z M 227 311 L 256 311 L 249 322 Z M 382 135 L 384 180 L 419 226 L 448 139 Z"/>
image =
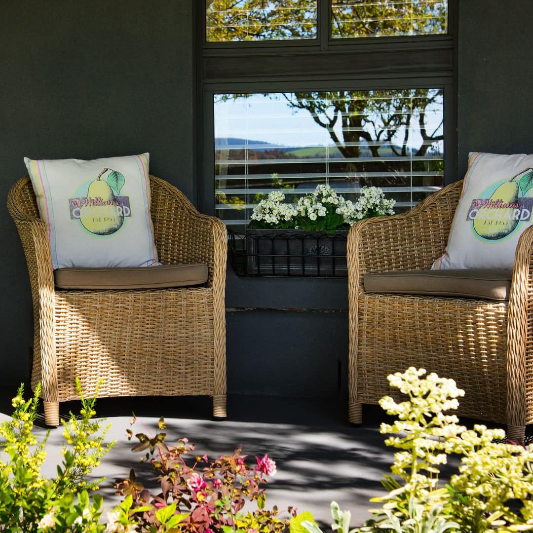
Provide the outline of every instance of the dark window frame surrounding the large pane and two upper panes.
<path id="1" fill-rule="evenodd" d="M 215 94 L 443 88 L 444 185 L 457 179 L 457 2 L 448 0 L 448 34 L 330 37 L 330 0 L 317 0 L 317 39 L 206 42 L 206 4 L 197 5 L 198 204 L 215 214 Z M 279 61 L 279 56 L 284 61 Z M 361 65 L 361 60 L 373 58 Z M 247 69 L 252 59 L 257 73 Z M 296 72 L 307 59 L 313 71 Z M 359 62 L 358 62 L 359 60 Z M 418 64 L 413 66 L 413 62 Z M 352 64 L 346 69 L 332 63 Z M 221 68 L 220 66 L 224 66 Z M 392 65 L 392 67 L 391 67 Z"/>

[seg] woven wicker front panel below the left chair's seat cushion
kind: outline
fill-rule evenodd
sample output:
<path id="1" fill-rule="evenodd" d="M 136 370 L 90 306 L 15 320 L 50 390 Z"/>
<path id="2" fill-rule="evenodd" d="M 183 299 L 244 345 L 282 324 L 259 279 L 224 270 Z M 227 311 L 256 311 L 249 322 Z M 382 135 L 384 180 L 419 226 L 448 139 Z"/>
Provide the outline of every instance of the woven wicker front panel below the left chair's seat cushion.
<path id="1" fill-rule="evenodd" d="M 56 292 L 56 333 L 68 339 L 56 346 L 59 401 L 78 397 L 76 376 L 84 376 L 87 394 L 105 376 L 100 394 L 106 397 L 213 395 L 210 309 L 211 288 L 102 290 L 91 298 L 85 291 Z"/>

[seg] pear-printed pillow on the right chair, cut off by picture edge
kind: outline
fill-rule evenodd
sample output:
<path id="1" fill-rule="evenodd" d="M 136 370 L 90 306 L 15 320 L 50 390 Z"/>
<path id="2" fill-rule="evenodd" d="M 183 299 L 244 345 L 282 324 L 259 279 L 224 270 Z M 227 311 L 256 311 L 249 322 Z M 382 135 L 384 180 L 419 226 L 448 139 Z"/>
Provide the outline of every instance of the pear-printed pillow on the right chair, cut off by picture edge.
<path id="1" fill-rule="evenodd" d="M 533 155 L 471 152 L 446 252 L 432 269 L 512 269 L 532 222 L 532 188 Z"/>

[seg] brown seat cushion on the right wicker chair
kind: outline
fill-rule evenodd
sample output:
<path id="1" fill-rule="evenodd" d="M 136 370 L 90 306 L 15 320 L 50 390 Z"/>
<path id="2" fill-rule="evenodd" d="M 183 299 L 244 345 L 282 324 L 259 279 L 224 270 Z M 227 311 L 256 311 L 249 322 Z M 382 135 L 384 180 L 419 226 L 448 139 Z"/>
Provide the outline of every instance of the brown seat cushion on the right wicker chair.
<path id="1" fill-rule="evenodd" d="M 510 270 L 403 270 L 365 274 L 369 293 L 456 296 L 481 300 L 508 300 Z"/>

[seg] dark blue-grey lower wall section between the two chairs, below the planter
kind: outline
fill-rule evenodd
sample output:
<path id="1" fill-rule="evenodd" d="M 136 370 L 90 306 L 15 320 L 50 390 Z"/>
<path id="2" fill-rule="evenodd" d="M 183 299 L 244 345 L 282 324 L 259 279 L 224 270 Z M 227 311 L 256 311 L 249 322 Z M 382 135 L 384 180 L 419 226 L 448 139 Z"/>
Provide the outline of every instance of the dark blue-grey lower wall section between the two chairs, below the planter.
<path id="1" fill-rule="evenodd" d="M 348 396 L 348 313 L 229 311 L 228 392 Z"/>

